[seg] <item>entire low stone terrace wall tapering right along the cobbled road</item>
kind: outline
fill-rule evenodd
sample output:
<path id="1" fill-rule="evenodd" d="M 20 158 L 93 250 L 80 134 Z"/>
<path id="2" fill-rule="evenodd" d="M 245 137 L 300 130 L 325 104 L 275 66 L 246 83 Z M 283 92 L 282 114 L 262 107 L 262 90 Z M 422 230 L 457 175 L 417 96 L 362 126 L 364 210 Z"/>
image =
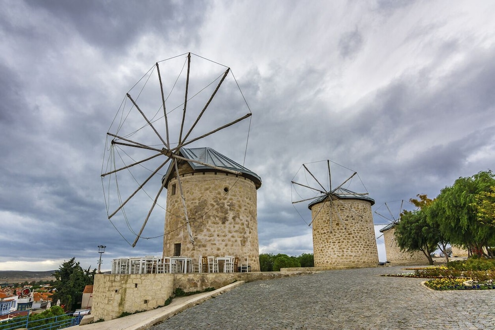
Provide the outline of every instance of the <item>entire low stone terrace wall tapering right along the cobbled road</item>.
<path id="1" fill-rule="evenodd" d="M 185 292 L 218 289 L 236 281 L 259 281 L 297 275 L 309 275 L 314 271 L 298 269 L 294 272 L 255 273 L 200 273 L 200 274 L 97 274 L 93 286 L 94 320 L 115 319 L 122 313 L 148 311 L 164 306 L 177 288 Z"/>

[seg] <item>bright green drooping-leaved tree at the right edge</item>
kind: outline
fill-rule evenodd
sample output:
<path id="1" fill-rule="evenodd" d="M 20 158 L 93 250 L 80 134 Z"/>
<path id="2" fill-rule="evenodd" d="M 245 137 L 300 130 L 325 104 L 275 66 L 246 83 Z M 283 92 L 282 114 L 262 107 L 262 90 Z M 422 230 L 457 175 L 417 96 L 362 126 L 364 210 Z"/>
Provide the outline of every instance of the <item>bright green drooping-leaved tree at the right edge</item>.
<path id="1" fill-rule="evenodd" d="M 489 192 L 493 186 L 492 171 L 455 180 L 452 187 L 442 189 L 429 207 L 428 222 L 438 224 L 451 244 L 467 246 L 469 251 L 481 256 L 483 247 L 495 243 L 495 231 L 478 220 L 476 196 Z"/>

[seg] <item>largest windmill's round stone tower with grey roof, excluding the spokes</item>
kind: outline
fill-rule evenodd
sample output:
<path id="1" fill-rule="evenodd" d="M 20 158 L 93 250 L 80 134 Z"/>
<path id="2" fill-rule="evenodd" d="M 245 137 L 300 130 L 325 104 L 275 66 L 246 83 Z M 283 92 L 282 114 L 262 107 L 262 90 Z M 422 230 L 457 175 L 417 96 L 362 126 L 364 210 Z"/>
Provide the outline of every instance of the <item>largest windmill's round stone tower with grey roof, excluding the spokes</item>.
<path id="1" fill-rule="evenodd" d="M 163 177 L 167 187 L 163 255 L 234 255 L 248 261 L 251 271 L 259 271 L 256 189 L 261 179 L 211 148 L 181 148 L 180 155 L 209 165 L 181 160 L 178 176 L 171 166 Z M 184 226 L 180 189 L 194 243 Z"/>

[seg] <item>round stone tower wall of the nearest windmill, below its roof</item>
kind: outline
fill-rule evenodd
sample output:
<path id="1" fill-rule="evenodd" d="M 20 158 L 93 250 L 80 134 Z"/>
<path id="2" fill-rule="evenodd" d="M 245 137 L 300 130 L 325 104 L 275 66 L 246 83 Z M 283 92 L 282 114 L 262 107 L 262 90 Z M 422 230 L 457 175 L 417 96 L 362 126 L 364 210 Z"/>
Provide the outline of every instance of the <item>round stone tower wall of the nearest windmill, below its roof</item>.
<path id="1" fill-rule="evenodd" d="M 179 170 L 181 173 L 181 170 Z M 174 255 L 174 244 L 181 244 L 181 255 L 239 257 L 252 272 L 259 272 L 256 188 L 244 177 L 224 172 L 199 172 L 181 176 L 189 221 L 195 238 L 189 240 L 184 208 L 177 179 L 167 185 L 167 209 L 163 256 Z M 175 194 L 172 186 L 175 185 Z"/>

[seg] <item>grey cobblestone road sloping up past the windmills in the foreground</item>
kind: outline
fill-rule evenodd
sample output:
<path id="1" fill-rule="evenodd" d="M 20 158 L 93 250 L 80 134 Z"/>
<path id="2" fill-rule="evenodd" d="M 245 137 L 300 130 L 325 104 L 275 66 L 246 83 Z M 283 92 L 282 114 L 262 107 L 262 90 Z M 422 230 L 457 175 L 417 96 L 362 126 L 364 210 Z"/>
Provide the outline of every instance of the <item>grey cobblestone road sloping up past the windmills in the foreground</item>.
<path id="1" fill-rule="evenodd" d="M 495 329 L 495 290 L 433 291 L 400 267 L 246 283 L 150 330 Z"/>

